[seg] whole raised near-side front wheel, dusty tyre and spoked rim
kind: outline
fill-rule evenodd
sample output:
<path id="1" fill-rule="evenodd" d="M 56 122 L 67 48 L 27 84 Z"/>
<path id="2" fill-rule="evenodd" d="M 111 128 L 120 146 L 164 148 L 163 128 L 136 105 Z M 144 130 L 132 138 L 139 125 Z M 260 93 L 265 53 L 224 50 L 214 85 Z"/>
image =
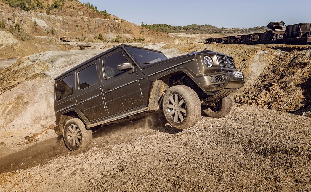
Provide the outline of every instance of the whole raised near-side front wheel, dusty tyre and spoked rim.
<path id="1" fill-rule="evenodd" d="M 170 87 L 164 94 L 162 106 L 165 119 L 176 129 L 193 127 L 201 115 L 197 93 L 184 85 Z"/>

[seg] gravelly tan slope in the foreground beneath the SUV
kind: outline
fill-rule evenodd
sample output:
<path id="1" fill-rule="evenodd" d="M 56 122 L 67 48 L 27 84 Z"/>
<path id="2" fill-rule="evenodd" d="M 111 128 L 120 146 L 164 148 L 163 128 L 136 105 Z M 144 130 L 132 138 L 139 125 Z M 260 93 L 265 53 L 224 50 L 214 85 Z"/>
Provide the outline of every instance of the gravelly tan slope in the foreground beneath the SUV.
<path id="1" fill-rule="evenodd" d="M 307 117 L 235 104 L 183 131 L 132 126 L 87 151 L 2 173 L 0 191 L 311 190 Z"/>

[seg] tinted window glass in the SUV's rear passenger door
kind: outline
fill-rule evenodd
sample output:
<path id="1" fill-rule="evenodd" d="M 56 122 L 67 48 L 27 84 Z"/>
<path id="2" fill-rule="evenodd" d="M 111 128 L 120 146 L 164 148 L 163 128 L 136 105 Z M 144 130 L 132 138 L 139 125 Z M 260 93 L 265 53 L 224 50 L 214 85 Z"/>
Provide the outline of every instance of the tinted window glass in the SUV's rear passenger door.
<path id="1" fill-rule="evenodd" d="M 85 89 L 97 83 L 96 64 L 92 64 L 79 71 L 79 89 Z"/>

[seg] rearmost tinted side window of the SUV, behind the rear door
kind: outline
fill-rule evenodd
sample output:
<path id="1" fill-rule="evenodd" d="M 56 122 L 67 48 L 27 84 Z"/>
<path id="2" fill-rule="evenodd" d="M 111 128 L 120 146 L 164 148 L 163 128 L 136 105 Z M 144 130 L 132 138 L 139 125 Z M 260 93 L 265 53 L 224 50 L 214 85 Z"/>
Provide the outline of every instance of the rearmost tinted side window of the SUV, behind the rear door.
<path id="1" fill-rule="evenodd" d="M 73 93 L 73 75 L 64 77 L 56 82 L 56 101 L 71 96 Z"/>

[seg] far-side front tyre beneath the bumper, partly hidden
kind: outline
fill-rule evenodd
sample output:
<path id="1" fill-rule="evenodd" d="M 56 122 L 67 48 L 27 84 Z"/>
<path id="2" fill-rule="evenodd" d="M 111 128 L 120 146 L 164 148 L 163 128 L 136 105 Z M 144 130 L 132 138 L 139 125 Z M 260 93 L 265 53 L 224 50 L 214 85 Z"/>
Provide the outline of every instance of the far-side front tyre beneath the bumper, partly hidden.
<path id="1" fill-rule="evenodd" d="M 215 103 L 215 107 L 202 106 L 205 115 L 213 118 L 220 118 L 228 115 L 232 109 L 232 97 L 228 95 Z"/>

